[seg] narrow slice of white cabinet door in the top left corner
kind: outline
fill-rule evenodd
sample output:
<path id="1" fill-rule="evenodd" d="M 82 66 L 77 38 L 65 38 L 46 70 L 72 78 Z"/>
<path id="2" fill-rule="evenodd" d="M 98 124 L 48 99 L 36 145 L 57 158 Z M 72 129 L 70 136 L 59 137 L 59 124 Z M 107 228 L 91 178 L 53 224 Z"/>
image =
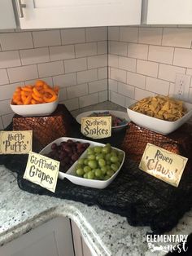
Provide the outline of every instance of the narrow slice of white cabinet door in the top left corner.
<path id="1" fill-rule="evenodd" d="M 15 29 L 15 15 L 11 0 L 0 1 L 0 29 Z"/>

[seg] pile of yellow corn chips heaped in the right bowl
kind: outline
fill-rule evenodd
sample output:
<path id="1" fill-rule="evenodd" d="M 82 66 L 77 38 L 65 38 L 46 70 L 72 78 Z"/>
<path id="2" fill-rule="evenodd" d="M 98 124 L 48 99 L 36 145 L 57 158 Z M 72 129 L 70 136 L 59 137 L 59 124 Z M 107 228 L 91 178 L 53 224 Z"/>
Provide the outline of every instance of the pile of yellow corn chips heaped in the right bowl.
<path id="1" fill-rule="evenodd" d="M 183 117 L 186 113 L 181 100 L 161 95 L 141 99 L 130 109 L 166 121 L 177 121 L 177 119 Z"/>

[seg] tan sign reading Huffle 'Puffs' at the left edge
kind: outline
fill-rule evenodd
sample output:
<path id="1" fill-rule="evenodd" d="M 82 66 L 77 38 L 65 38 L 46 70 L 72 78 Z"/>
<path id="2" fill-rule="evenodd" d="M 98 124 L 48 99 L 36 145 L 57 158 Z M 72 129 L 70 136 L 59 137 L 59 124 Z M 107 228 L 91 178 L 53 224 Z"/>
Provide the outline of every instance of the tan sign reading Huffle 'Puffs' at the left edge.
<path id="1" fill-rule="evenodd" d="M 32 135 L 32 130 L 0 131 L 0 154 L 28 154 Z"/>

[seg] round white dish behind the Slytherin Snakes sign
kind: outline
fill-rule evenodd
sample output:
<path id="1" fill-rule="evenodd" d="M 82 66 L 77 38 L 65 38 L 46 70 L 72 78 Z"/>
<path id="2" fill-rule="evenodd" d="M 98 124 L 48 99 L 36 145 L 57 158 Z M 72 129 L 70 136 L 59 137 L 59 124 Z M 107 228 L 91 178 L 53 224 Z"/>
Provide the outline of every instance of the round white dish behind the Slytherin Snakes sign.
<path id="1" fill-rule="evenodd" d="M 112 115 L 114 115 L 116 117 L 119 117 L 120 119 L 125 119 L 126 120 L 126 123 L 124 125 L 112 126 L 111 127 L 112 131 L 119 131 L 119 130 L 124 129 L 124 127 L 126 127 L 128 125 L 128 123 L 129 123 L 129 121 L 130 121 L 129 118 L 128 118 L 127 113 L 125 113 L 123 111 L 113 111 L 113 110 L 92 110 L 92 111 L 87 111 L 87 112 L 79 114 L 76 117 L 76 121 L 78 121 L 78 123 L 81 124 L 81 118 L 82 117 L 89 117 L 92 113 L 103 113 L 103 112 L 109 112 Z"/>

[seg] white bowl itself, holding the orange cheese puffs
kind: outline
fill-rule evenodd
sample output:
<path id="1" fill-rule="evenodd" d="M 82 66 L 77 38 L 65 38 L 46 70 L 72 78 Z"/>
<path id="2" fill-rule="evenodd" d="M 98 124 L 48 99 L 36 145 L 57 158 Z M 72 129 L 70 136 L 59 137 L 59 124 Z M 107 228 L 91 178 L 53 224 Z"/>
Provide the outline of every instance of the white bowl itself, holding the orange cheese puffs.
<path id="1" fill-rule="evenodd" d="M 14 113 L 23 117 L 48 116 L 55 111 L 59 102 L 59 97 L 50 103 L 14 105 L 10 104 Z"/>

